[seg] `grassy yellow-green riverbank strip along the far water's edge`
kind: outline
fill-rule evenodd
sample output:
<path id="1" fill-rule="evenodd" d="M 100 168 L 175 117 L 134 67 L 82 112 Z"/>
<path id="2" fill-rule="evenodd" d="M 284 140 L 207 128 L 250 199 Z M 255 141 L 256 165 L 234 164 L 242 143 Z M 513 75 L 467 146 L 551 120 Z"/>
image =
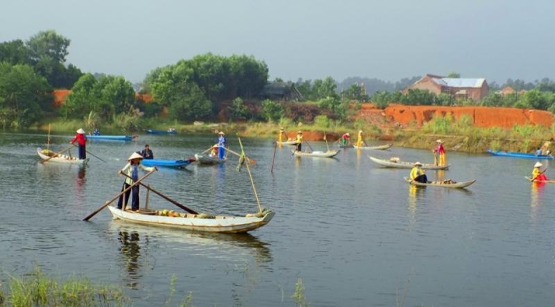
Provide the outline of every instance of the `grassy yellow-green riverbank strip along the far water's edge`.
<path id="1" fill-rule="evenodd" d="M 31 131 L 47 132 L 51 127 L 51 133 L 74 134 L 75 130 L 84 127 L 83 121 L 63 121 L 57 119 L 50 123 L 37 125 Z M 175 128 L 178 133 L 216 133 L 224 131 L 226 134 L 237 134 L 241 137 L 259 137 L 264 139 L 277 138 L 280 127 L 284 127 L 287 136 L 294 138 L 298 130 L 304 132 L 307 141 L 324 141 L 333 143 L 345 132 L 350 132 L 353 141 L 356 139 L 357 131 L 363 130 L 368 142 L 376 141 L 393 143 L 395 146 L 406 148 L 433 148 L 436 139 L 442 139 L 445 148 L 450 151 L 461 152 L 486 152 L 486 150 L 509 150 L 518 152 L 533 152 L 536 148 L 543 146 L 545 141 L 552 139 L 555 127 L 545 128 L 543 125 L 515 125 L 513 128 L 481 128 L 472 125 L 465 116 L 454 120 L 450 117 L 434 118 L 417 127 L 415 125 L 402 127 L 378 127 L 366 121 L 354 121 L 348 123 L 336 123 L 328 121 L 325 123 L 297 124 L 282 120 L 280 123 L 180 123 L 169 120 L 147 120 L 141 123 L 141 130 L 122 131 L 117 125 L 103 125 L 103 134 L 133 134 L 140 133 L 146 129 L 167 130 Z M 553 151 L 553 150 L 552 150 Z"/>

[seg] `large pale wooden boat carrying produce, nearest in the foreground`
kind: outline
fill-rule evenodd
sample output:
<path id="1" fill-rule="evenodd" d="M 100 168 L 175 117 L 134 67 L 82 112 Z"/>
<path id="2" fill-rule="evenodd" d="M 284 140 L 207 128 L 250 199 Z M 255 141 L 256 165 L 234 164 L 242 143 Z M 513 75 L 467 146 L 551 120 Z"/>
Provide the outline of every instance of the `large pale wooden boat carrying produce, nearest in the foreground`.
<path id="1" fill-rule="evenodd" d="M 193 231 L 209 231 L 221 233 L 241 233 L 262 227 L 270 222 L 275 215 L 266 209 L 262 214 L 246 216 L 208 216 L 207 214 L 180 213 L 179 217 L 159 216 L 160 211 L 123 211 L 109 206 L 114 219 L 126 220 L 146 225 L 176 227 Z"/>

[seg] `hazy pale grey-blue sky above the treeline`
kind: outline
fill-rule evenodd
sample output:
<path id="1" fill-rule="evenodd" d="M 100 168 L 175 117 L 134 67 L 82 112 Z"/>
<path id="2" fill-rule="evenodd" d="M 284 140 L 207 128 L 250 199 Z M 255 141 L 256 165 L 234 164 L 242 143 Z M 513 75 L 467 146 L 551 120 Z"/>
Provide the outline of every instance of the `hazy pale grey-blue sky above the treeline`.
<path id="1" fill-rule="evenodd" d="M 68 61 L 133 82 L 199 53 L 248 54 L 271 78 L 555 78 L 555 1 L 3 1 L 0 41 L 54 29 Z"/>

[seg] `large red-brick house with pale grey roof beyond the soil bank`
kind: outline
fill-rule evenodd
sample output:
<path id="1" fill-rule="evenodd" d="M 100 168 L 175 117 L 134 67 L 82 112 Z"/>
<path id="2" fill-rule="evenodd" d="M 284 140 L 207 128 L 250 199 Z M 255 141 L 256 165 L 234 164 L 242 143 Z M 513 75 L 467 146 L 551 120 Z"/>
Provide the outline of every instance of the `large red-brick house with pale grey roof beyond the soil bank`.
<path id="1" fill-rule="evenodd" d="M 488 82 L 485 78 L 445 78 L 427 74 L 413 85 L 404 89 L 406 94 L 409 89 L 425 89 L 436 95 L 450 94 L 456 98 L 481 100 L 488 96 Z"/>

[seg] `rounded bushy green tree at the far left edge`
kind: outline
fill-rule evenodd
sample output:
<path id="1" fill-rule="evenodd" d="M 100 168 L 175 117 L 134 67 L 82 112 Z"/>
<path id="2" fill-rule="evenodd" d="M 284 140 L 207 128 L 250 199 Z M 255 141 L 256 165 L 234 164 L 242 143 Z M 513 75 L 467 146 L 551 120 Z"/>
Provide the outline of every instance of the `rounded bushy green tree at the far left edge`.
<path id="1" fill-rule="evenodd" d="M 0 63 L 0 123 L 26 128 L 51 109 L 51 87 L 26 64 Z"/>

